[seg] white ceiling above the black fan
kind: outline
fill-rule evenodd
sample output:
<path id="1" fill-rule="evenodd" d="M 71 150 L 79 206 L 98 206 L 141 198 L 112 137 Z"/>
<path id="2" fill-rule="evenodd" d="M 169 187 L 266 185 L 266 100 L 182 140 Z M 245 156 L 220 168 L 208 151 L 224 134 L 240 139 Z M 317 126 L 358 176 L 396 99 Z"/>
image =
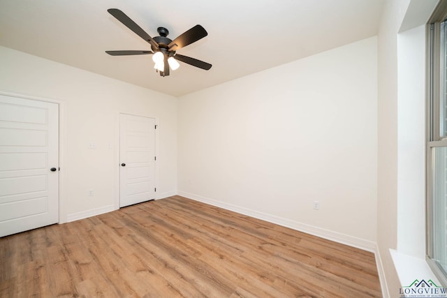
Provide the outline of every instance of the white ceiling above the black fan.
<path id="1" fill-rule="evenodd" d="M 182 96 L 237 77 L 376 35 L 384 0 L 0 0 L 0 45 Z M 108 8 L 119 8 L 150 36 L 174 39 L 196 24 L 208 36 L 177 52 L 212 64 L 182 64 L 170 76 L 150 55 L 112 57 L 105 50 L 150 50 Z"/>

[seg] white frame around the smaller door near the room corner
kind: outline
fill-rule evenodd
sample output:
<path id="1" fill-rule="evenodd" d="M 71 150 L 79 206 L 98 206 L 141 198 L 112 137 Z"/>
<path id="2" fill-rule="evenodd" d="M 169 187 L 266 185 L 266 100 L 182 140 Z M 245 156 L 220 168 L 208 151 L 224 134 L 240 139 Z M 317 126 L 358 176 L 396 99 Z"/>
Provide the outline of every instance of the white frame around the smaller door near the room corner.
<path id="1" fill-rule="evenodd" d="M 125 114 L 125 115 L 131 115 L 131 116 L 137 116 L 137 117 L 145 117 L 145 118 L 152 118 L 155 119 L 155 125 L 157 126 L 155 130 L 155 156 L 159 156 L 159 117 L 156 117 L 155 115 L 151 114 L 137 114 L 133 112 L 118 112 L 116 115 L 116 124 L 117 127 L 115 128 L 116 133 L 116 139 L 115 139 L 115 147 L 117 148 L 115 150 L 115 165 L 116 165 L 116 174 L 115 174 L 115 210 L 119 209 L 119 169 L 120 169 L 120 161 L 119 161 L 119 150 L 121 149 L 119 146 L 119 129 L 121 128 L 121 123 L 119 122 L 119 115 Z M 159 185 L 159 163 L 156 160 L 155 161 L 155 177 L 154 177 L 154 186 L 157 188 Z M 155 199 L 158 200 L 159 196 L 155 192 Z"/>

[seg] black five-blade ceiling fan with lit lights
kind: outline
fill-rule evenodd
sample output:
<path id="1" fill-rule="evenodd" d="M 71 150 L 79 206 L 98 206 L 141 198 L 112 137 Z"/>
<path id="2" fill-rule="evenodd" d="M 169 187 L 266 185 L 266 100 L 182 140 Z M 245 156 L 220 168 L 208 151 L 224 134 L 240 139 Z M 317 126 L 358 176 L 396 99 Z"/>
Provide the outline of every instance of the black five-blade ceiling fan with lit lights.
<path id="1" fill-rule="evenodd" d="M 176 53 L 176 51 L 182 47 L 195 43 L 197 40 L 200 40 L 208 35 L 207 31 L 202 26 L 196 25 L 188 31 L 180 34 L 180 36 L 174 40 L 170 40 L 170 38 L 167 37 L 169 34 L 168 29 L 159 27 L 156 31 L 160 36 L 152 38 L 121 10 L 117 8 L 110 8 L 107 11 L 110 15 L 113 15 L 117 20 L 119 20 L 119 22 L 122 22 L 127 28 L 131 29 L 135 34 L 140 36 L 140 38 L 146 40 L 147 43 L 151 45 L 152 50 L 105 51 L 107 54 L 112 56 L 153 54 L 152 59 L 155 62 L 154 68 L 156 68 L 156 71 L 159 72 L 162 77 L 169 75 L 169 68 L 175 70 L 179 67 L 177 60 L 204 70 L 209 70 L 211 68 L 212 65 L 209 63 Z"/>

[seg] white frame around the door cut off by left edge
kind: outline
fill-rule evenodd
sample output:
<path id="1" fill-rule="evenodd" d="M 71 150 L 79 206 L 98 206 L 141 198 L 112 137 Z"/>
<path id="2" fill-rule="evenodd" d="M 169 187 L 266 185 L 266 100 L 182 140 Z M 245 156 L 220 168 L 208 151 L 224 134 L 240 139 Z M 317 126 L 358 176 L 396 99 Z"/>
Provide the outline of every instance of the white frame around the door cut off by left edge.
<path id="1" fill-rule="evenodd" d="M 59 193 L 57 194 L 58 200 L 59 200 L 59 221 L 58 224 L 66 223 L 67 222 L 67 215 L 66 215 L 66 207 L 65 207 L 65 192 L 66 192 L 66 183 L 65 183 L 65 140 L 62 138 L 66 131 L 66 105 L 63 101 L 57 100 L 57 99 L 50 99 L 50 98 L 41 98 L 38 96 L 29 96 L 24 94 L 17 94 L 13 92 L 7 92 L 7 91 L 1 91 L 0 94 L 3 96 L 9 96 L 9 97 L 15 97 L 15 98 L 21 98 L 21 99 L 27 99 L 27 100 L 36 100 L 41 101 L 44 103 L 56 103 L 59 105 L 59 167 L 61 170 L 57 171 L 59 174 Z"/>

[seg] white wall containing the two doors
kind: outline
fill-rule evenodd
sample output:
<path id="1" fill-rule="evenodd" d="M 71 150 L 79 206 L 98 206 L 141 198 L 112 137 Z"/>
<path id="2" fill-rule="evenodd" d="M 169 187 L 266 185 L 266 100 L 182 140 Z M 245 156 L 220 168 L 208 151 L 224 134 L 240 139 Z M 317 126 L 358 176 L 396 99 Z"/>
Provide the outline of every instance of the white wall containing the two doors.
<path id="1" fill-rule="evenodd" d="M 157 198 L 176 193 L 177 98 L 6 47 L 0 65 L 0 91 L 63 107 L 61 222 L 117 208 L 120 112 L 158 119 Z"/>

